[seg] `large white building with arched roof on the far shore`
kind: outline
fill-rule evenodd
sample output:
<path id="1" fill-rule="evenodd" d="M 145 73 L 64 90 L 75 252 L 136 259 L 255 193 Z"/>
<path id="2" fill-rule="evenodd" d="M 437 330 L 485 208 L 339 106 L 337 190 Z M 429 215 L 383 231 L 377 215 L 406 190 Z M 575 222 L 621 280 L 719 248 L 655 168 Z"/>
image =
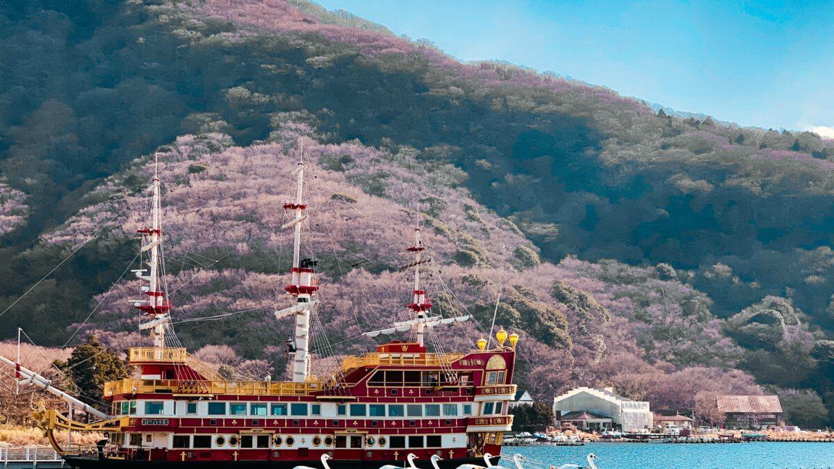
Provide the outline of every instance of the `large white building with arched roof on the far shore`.
<path id="1" fill-rule="evenodd" d="M 582 430 L 619 428 L 636 431 L 654 425 L 649 403 L 632 401 L 613 388 L 578 387 L 553 399 L 558 425 L 573 425 Z"/>

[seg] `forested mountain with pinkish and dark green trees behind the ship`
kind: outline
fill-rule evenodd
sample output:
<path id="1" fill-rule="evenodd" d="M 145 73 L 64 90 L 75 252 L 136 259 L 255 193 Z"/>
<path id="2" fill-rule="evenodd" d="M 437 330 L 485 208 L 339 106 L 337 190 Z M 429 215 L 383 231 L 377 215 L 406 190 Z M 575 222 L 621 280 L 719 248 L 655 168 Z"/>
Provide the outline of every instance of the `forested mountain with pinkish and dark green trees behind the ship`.
<path id="1" fill-rule="evenodd" d="M 138 340 L 122 275 L 157 154 L 174 316 L 193 320 L 183 343 L 280 375 L 289 329 L 264 308 L 284 301 L 280 200 L 303 141 L 321 327 L 339 350 L 405 314 L 398 266 L 420 203 L 437 304 L 488 325 L 500 292 L 540 398 L 610 384 L 685 410 L 772 386 L 786 407 L 834 409 L 830 140 L 459 63 L 303 0 L 38 0 L 2 15 L 2 337 Z"/>

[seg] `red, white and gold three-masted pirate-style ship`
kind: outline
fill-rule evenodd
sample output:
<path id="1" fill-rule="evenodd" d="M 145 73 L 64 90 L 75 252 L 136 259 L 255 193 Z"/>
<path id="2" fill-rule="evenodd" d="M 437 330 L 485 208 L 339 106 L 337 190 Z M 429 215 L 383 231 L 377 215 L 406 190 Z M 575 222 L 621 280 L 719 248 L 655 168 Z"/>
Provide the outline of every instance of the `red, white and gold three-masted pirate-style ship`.
<path id="1" fill-rule="evenodd" d="M 410 319 L 364 333 L 409 333 L 412 340 L 390 340 L 371 353 L 344 358 L 329 375 L 313 376 L 310 319 L 319 305 L 319 287 L 315 262 L 300 255 L 308 210 L 304 173 L 299 160 L 295 198 L 284 204 L 293 215 L 283 228 L 294 231 L 291 281 L 285 287 L 294 304 L 274 313 L 294 320 L 289 381 L 226 380 L 179 344 L 164 282 L 163 212 L 155 174 L 147 222 L 138 229 L 147 268 L 134 272 L 143 297 L 133 300 L 145 318 L 140 329 L 149 332 L 153 346 L 129 349 L 134 376 L 106 383 L 109 412 L 13 364 L 21 380 L 52 391 L 94 420 L 73 421 L 43 404 L 35 410 L 39 425 L 69 465 L 289 468 L 305 461 L 314 465 L 326 454 L 337 469 L 401 466 L 413 454 L 420 467 L 430 467 L 435 455 L 442 457 L 441 467 L 458 467 L 482 463 L 488 453 L 500 454 L 503 432 L 512 424 L 508 403 L 516 391 L 518 335 L 498 330 L 495 338 L 480 338 L 463 353 L 444 353 L 437 350 L 439 343 L 434 351 L 428 349 L 426 335 L 432 329 L 471 318 L 432 313 L 420 286 L 420 268 L 430 260 L 424 256 L 419 224 L 407 248 L 413 260 L 405 266 L 414 275 Z M 62 446 L 53 435 L 57 429 L 105 431 L 108 437 L 95 447 Z"/>

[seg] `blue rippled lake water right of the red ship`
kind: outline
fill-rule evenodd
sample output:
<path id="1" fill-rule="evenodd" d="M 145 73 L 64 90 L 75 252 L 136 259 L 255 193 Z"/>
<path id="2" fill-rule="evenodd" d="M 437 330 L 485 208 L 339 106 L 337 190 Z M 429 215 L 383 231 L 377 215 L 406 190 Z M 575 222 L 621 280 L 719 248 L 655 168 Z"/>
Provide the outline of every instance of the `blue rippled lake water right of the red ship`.
<path id="1" fill-rule="evenodd" d="M 520 453 L 556 467 L 573 463 L 586 466 L 585 456 L 599 456 L 600 469 L 801 467 L 834 469 L 834 443 L 586 443 L 585 446 L 505 446 L 504 454 Z M 501 466 L 513 467 L 501 460 Z M 532 465 L 530 465 L 532 467 Z M 549 467 L 549 466 L 548 466 Z"/>

